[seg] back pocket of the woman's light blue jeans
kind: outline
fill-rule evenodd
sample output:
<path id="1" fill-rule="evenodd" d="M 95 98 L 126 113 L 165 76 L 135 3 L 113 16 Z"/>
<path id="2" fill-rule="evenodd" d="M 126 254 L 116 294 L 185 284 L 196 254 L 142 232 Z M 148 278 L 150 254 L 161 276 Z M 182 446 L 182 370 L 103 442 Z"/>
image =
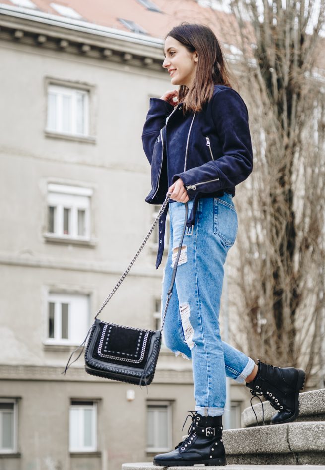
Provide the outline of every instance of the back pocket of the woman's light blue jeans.
<path id="1" fill-rule="evenodd" d="M 213 230 L 226 246 L 235 243 L 238 229 L 238 219 L 234 203 L 219 197 L 214 198 L 214 226 Z"/>

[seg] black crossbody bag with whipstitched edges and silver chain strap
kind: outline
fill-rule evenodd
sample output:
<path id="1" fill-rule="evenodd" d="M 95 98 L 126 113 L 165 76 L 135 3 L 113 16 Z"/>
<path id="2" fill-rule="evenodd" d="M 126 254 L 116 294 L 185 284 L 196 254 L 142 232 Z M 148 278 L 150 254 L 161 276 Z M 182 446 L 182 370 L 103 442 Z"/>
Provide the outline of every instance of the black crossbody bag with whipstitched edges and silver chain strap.
<path id="1" fill-rule="evenodd" d="M 94 318 L 95 321 L 88 331 L 85 340 L 74 352 L 72 352 L 71 356 L 69 357 L 64 374 L 66 374 L 66 371 L 70 365 L 78 360 L 82 354 L 83 348 L 89 336 L 84 355 L 85 370 L 88 374 L 104 377 L 107 379 L 118 380 L 120 382 L 128 382 L 135 385 L 149 385 L 152 382 L 161 346 L 162 330 L 165 323 L 168 304 L 172 296 L 178 260 L 181 254 L 183 239 L 186 231 L 186 222 L 188 218 L 187 203 L 184 204 L 185 221 L 183 233 L 178 247 L 177 257 L 174 263 L 172 280 L 167 292 L 161 329 L 155 331 L 132 328 L 129 326 L 116 325 L 114 323 L 101 321 L 97 317 L 127 276 L 136 258 L 148 241 L 149 236 L 152 234 L 155 225 L 165 211 L 169 198 L 170 194 L 167 195 L 148 234 L 144 238 L 140 248 L 136 252 L 129 266 L 96 313 Z M 81 351 L 79 352 L 78 357 L 73 362 L 70 362 L 73 354 L 76 353 L 79 349 L 81 349 Z"/>

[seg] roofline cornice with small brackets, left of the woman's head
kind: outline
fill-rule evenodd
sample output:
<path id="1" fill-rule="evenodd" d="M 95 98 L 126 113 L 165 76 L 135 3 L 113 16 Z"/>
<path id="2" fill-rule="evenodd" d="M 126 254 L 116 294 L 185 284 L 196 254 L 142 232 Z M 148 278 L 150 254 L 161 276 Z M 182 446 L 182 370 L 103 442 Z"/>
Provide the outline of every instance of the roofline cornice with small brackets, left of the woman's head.
<path id="1" fill-rule="evenodd" d="M 0 39 L 162 72 L 161 39 L 3 3 Z"/>

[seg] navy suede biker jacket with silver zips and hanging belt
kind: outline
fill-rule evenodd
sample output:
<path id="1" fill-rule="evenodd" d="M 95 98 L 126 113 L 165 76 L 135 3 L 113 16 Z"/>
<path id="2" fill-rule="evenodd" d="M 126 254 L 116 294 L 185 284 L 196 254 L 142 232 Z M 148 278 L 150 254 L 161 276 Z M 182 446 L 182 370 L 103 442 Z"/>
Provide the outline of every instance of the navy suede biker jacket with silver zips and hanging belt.
<path id="1" fill-rule="evenodd" d="M 187 138 L 180 145 L 168 147 L 168 131 L 180 120 L 189 119 Z M 152 189 L 146 197 L 150 204 L 162 204 L 168 191 L 168 160 L 181 159 L 184 171 L 173 176 L 184 182 L 193 209 L 187 226 L 195 221 L 200 197 L 220 197 L 224 192 L 235 195 L 235 186 L 253 169 L 253 152 L 248 112 L 240 95 L 232 88 L 215 85 L 213 96 L 201 112 L 183 116 L 182 103 L 174 106 L 159 98 L 150 98 L 150 108 L 142 133 L 143 149 L 151 165 Z M 180 162 L 180 163 L 181 163 Z M 167 206 L 168 209 L 168 206 Z M 159 221 L 158 268 L 164 250 L 167 210 Z"/>

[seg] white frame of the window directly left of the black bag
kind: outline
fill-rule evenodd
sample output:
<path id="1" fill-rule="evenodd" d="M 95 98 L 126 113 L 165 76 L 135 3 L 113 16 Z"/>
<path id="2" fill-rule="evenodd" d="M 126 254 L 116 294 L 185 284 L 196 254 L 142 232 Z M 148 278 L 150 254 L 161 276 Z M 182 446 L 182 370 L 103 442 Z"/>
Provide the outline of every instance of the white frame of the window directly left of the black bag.
<path id="1" fill-rule="evenodd" d="M 85 331 L 80 333 L 80 337 L 75 338 L 73 340 L 73 336 L 71 337 L 71 332 L 75 331 L 75 323 L 73 323 L 73 318 L 75 319 L 74 312 L 79 310 L 78 307 L 73 307 L 73 300 L 79 297 L 84 297 L 84 300 L 87 302 L 87 311 L 84 317 L 84 326 Z M 54 303 L 54 338 L 49 338 L 49 304 Z M 68 315 L 68 338 L 61 338 L 59 332 L 61 331 L 61 318 L 60 318 L 60 304 L 61 303 L 68 303 L 69 304 L 69 315 Z M 72 306 L 71 306 L 72 305 Z M 44 344 L 46 345 L 65 345 L 65 346 L 78 346 L 84 336 L 87 333 L 90 323 L 90 298 L 88 294 L 72 294 L 72 293 L 59 293 L 59 292 L 48 292 L 47 299 L 46 299 L 46 330 L 45 330 L 45 339 Z"/>

